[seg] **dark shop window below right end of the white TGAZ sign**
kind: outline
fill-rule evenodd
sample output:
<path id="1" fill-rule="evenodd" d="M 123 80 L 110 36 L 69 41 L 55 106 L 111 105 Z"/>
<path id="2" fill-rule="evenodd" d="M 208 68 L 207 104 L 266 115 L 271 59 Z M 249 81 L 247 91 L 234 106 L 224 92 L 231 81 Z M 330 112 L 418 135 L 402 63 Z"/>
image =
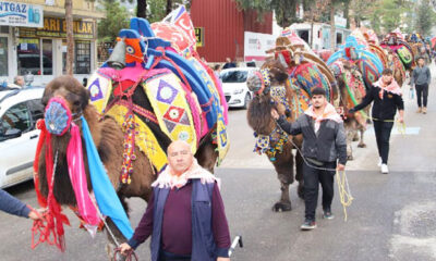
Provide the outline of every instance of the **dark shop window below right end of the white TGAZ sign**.
<path id="1" fill-rule="evenodd" d="M 40 49 L 39 39 L 20 38 L 17 50 L 19 74 L 32 73 L 40 75 Z"/>

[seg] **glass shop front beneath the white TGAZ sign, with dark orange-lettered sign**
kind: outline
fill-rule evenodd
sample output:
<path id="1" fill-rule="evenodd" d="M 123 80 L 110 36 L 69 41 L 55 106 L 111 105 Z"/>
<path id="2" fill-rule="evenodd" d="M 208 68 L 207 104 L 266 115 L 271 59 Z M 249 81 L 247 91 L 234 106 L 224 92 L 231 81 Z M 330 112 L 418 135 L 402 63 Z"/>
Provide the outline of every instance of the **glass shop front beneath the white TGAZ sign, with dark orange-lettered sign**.
<path id="1" fill-rule="evenodd" d="M 21 24 L 0 18 L 0 82 L 12 83 L 16 75 L 34 75 L 33 85 L 46 85 L 65 73 L 66 24 L 60 14 L 46 12 L 43 5 L 25 4 Z M 29 12 L 28 10 L 38 10 Z M 0 10 L 0 14 L 1 14 Z M 32 18 L 29 18 L 32 13 Z M 37 17 L 36 17 L 37 16 Z M 34 23 L 29 23 L 33 21 Z M 35 23 L 38 21 L 38 23 Z M 96 20 L 80 16 L 73 21 L 73 73 L 80 82 L 96 67 Z M 0 83 L 1 84 L 1 83 Z"/>

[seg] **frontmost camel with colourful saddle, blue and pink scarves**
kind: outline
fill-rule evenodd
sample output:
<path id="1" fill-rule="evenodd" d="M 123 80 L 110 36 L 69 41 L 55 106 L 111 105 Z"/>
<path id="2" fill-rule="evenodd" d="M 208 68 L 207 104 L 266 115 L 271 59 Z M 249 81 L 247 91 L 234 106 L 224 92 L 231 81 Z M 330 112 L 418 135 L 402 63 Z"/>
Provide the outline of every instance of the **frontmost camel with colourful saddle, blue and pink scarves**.
<path id="1" fill-rule="evenodd" d="M 211 172 L 226 156 L 227 104 L 219 79 L 195 51 L 184 8 L 165 21 L 132 18 L 86 88 L 70 76 L 47 85 L 35 159 L 35 189 L 48 208 L 40 241 L 64 249 L 68 219 L 60 206 L 70 206 L 92 235 L 106 222 L 111 257 L 113 244 L 133 234 L 124 199 L 149 199 L 172 140 L 189 142 Z"/>

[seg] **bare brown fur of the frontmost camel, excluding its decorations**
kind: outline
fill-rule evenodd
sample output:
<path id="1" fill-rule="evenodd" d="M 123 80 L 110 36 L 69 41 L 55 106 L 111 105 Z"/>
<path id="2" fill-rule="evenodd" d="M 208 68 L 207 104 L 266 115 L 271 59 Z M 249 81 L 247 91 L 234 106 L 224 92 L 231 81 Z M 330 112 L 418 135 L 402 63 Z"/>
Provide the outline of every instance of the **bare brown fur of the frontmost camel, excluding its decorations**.
<path id="1" fill-rule="evenodd" d="M 138 88 L 138 92 L 143 89 Z M 73 115 L 73 122 L 80 127 L 82 126 L 80 116 L 86 120 L 89 125 L 90 134 L 94 144 L 98 150 L 98 154 L 105 165 L 107 175 L 116 189 L 124 210 L 129 212 L 126 198 L 140 197 L 145 201 L 148 201 L 152 192 L 152 183 L 156 179 L 156 169 L 153 162 L 147 158 L 137 145 L 135 145 L 136 159 L 133 161 L 133 173 L 131 174 L 130 183 L 120 182 L 120 173 L 123 163 L 124 153 L 124 133 L 120 125 L 111 116 L 104 116 L 97 112 L 96 108 L 89 103 L 89 91 L 82 86 L 78 80 L 71 76 L 60 76 L 51 80 L 45 89 L 44 97 L 41 99 L 43 104 L 47 105 L 53 97 L 63 98 Z M 143 95 L 144 96 L 144 95 Z M 81 128 L 82 129 L 82 128 Z M 82 132 L 81 132 L 82 135 Z M 70 130 L 64 135 L 57 136 L 51 135 L 51 148 L 56 149 L 58 153 L 57 165 L 56 165 L 56 178 L 53 182 L 53 195 L 56 200 L 62 206 L 75 207 L 76 198 L 74 195 L 73 187 L 71 185 L 68 161 L 66 161 L 66 146 L 71 138 Z M 168 138 L 167 138 L 168 139 Z M 82 135 L 83 140 L 83 135 Z M 169 145 L 170 140 L 164 140 L 165 145 Z M 164 148 L 166 150 L 166 148 Z M 198 163 L 214 171 L 214 165 L 217 161 L 216 145 L 213 144 L 211 133 L 206 135 L 202 140 L 197 149 L 195 157 Z M 46 146 L 43 147 L 38 162 L 39 169 L 37 172 L 39 183 L 39 190 L 41 195 L 47 198 L 48 196 L 48 184 L 46 177 L 46 161 L 45 154 L 47 153 Z M 88 190 L 92 192 L 89 170 L 86 160 L 86 150 L 83 148 L 85 171 L 88 184 Z M 55 154 L 55 151 L 52 152 Z M 124 243 L 129 238 L 119 232 L 117 226 L 107 217 L 108 226 L 113 232 L 119 243 Z M 107 251 L 110 258 L 114 248 L 112 238 L 108 235 L 109 244 L 107 245 Z"/>

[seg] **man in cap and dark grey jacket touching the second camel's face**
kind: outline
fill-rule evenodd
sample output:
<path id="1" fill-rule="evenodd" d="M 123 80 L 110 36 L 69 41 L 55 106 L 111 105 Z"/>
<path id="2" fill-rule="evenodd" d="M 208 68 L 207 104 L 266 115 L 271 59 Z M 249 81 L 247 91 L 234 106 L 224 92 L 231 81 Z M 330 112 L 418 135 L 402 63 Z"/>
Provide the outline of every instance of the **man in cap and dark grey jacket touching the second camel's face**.
<path id="1" fill-rule="evenodd" d="M 280 127 L 290 135 L 303 134 L 303 165 L 305 220 L 301 229 L 316 227 L 315 210 L 318 201 L 319 183 L 323 187 L 324 217 L 334 219 L 334 176 L 343 171 L 347 163 L 347 138 L 343 122 L 335 108 L 327 102 L 323 88 L 312 90 L 312 105 L 294 123 L 279 116 L 275 109 L 271 115 Z M 339 160 L 339 162 L 337 162 Z"/>

